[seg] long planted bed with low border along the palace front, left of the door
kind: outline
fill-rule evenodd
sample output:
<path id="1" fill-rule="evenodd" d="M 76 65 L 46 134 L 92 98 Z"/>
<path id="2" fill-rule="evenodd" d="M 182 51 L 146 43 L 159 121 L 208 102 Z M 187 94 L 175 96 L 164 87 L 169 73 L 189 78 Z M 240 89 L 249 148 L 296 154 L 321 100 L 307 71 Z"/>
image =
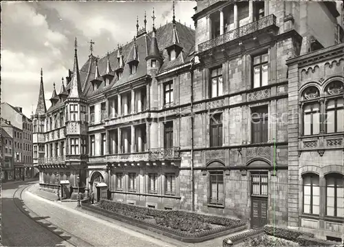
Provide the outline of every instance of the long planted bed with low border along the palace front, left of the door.
<path id="1" fill-rule="evenodd" d="M 217 228 L 223 228 L 222 230 L 224 230 L 224 228 L 235 228 L 244 225 L 244 222 L 240 219 L 200 215 L 184 211 L 162 211 L 107 200 L 100 201 L 96 206 L 118 215 L 125 215 L 139 221 L 153 222 L 162 228 L 178 230 L 188 234 L 202 233 Z"/>

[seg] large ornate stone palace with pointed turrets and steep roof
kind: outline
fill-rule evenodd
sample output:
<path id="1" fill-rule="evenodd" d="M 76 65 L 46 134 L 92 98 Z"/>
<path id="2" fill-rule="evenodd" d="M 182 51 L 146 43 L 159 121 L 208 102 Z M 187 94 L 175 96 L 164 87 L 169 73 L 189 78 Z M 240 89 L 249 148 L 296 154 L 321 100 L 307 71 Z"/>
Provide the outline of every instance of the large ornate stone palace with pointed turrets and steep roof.
<path id="1" fill-rule="evenodd" d="M 41 77 L 33 120 L 41 186 L 235 216 L 251 228 L 301 227 L 288 186 L 299 174 L 290 92 L 300 87 L 297 58 L 343 42 L 340 15 L 331 2 L 197 1 L 195 30 L 173 8 L 171 23 L 155 28 L 153 15 L 149 32 L 144 18 L 133 41 L 102 58 L 91 42 L 80 69 L 75 47 L 50 109 Z"/>

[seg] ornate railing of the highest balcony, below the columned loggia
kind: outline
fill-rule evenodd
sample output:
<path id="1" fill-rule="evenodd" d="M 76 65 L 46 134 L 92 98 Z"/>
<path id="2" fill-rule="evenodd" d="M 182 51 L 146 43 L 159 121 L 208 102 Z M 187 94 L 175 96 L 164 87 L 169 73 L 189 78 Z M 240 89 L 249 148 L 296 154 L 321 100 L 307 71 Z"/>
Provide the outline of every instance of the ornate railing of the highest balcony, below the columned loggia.
<path id="1" fill-rule="evenodd" d="M 235 30 L 230 30 L 225 34 L 217 36 L 215 39 L 200 43 L 200 45 L 198 45 L 198 52 L 205 52 L 206 50 L 210 50 L 213 47 L 224 45 L 230 41 L 234 41 L 235 39 L 239 39 L 248 34 L 252 34 L 259 30 L 264 30 L 265 28 L 270 28 L 273 26 L 276 26 L 276 17 L 274 14 L 270 14 L 266 17 L 263 17 L 262 19 L 259 19 L 258 21 L 248 23 L 247 25 L 243 25 L 242 27 Z"/>

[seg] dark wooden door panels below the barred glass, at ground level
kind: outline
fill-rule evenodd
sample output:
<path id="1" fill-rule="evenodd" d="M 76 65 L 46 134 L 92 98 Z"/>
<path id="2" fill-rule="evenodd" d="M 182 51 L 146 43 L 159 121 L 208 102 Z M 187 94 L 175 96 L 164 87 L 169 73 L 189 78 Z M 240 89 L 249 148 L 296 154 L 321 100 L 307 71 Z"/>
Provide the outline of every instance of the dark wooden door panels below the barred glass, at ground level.
<path id="1" fill-rule="evenodd" d="M 251 228 L 257 229 L 268 223 L 268 200 L 267 198 L 251 198 Z"/>

